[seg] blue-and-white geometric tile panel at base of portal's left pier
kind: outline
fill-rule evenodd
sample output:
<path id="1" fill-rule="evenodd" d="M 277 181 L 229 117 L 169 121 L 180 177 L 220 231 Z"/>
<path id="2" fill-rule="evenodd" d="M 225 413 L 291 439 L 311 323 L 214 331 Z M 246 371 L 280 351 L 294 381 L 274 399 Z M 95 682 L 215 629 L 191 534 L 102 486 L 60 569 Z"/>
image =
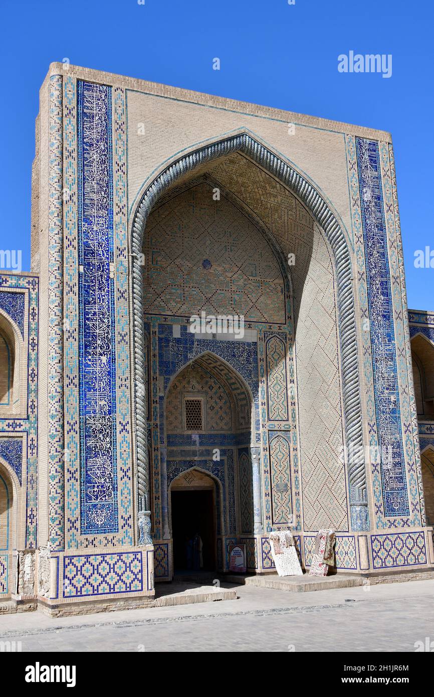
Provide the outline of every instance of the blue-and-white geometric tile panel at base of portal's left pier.
<path id="1" fill-rule="evenodd" d="M 88 597 L 144 589 L 140 552 L 65 556 L 63 597 Z"/>

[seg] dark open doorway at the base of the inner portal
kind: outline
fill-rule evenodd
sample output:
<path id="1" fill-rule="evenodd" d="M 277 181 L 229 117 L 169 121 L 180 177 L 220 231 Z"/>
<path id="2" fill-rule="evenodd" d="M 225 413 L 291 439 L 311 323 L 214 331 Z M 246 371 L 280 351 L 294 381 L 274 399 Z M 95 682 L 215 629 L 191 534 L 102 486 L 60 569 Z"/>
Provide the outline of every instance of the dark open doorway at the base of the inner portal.
<path id="1" fill-rule="evenodd" d="M 178 572 L 215 571 L 217 521 L 214 491 L 172 491 L 171 508 L 174 569 Z M 199 534 L 202 541 L 202 567 L 199 566 L 197 543 L 194 542 L 196 534 Z"/>

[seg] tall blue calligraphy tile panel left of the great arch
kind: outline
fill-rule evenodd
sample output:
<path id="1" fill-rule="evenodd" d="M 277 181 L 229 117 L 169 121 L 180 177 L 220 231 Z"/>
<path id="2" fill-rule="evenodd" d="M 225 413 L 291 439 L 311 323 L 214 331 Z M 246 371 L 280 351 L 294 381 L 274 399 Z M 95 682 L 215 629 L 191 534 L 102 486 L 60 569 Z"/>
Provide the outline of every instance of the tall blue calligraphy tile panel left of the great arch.
<path id="1" fill-rule="evenodd" d="M 118 531 L 111 88 L 78 84 L 82 534 Z"/>

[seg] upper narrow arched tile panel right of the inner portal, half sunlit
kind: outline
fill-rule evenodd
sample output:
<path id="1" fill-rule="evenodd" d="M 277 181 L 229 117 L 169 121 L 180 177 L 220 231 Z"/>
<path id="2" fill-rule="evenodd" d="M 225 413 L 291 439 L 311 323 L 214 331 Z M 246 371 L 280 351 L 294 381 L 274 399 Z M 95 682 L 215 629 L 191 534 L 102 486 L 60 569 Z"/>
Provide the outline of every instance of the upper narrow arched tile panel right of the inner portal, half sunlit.
<path id="1" fill-rule="evenodd" d="M 267 354 L 268 418 L 288 421 L 288 389 L 286 386 L 286 346 L 278 337 L 265 344 Z"/>

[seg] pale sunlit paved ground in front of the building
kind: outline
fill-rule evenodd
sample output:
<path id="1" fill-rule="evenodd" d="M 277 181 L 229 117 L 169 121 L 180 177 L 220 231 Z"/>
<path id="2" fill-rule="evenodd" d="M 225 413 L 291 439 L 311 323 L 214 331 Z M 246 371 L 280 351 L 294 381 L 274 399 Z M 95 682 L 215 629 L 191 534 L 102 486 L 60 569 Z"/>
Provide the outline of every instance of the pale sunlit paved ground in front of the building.
<path id="1" fill-rule="evenodd" d="M 22 641 L 23 651 L 414 652 L 428 637 L 434 648 L 434 580 L 304 593 L 230 587 L 238 600 L 81 618 L 3 615 L 0 641 Z"/>

